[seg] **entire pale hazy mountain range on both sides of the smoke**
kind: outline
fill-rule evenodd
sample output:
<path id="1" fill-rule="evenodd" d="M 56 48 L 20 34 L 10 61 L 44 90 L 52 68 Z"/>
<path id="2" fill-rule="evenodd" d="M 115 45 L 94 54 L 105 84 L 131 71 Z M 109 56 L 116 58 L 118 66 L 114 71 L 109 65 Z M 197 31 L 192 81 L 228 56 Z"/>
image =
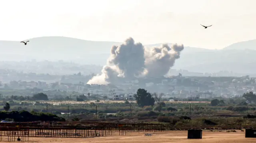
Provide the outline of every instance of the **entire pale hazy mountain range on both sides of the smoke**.
<path id="1" fill-rule="evenodd" d="M 38 37 L 29 40 L 27 45 L 20 41 L 0 41 L 0 61 L 46 59 L 105 65 L 112 45 L 120 43 L 86 41 L 69 37 Z M 168 44 L 171 45 L 171 43 Z M 161 44 L 145 46 L 159 45 Z M 234 43 L 220 50 L 184 46 L 174 69 L 186 69 L 193 72 L 254 73 L 256 71 L 254 66 L 256 65 L 256 40 Z"/>

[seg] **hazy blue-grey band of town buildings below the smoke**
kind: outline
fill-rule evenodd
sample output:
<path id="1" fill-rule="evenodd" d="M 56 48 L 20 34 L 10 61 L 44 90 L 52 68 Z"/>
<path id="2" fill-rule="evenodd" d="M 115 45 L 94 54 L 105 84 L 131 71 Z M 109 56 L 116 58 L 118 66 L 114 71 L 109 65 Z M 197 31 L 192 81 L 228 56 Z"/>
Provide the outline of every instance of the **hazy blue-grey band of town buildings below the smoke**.
<path id="1" fill-rule="evenodd" d="M 134 100 L 138 88 L 144 88 L 148 92 L 164 93 L 166 98 L 188 98 L 198 100 L 213 97 L 241 96 L 246 92 L 255 92 L 256 79 L 249 76 L 242 77 L 183 77 L 181 74 L 170 78 L 137 79 L 120 84 L 77 84 L 64 82 L 42 81 L 10 81 L 0 82 L 0 88 L 12 88 L 16 90 L 34 90 L 43 92 L 46 90 L 58 90 L 60 92 L 79 92 L 85 95 L 108 96 L 112 100 Z"/>

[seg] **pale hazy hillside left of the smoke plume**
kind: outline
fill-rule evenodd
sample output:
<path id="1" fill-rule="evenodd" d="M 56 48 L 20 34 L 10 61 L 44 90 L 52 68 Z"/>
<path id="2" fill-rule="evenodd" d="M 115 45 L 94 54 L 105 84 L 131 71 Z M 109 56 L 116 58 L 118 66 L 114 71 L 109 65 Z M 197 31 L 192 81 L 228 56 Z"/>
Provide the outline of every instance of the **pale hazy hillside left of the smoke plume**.
<path id="1" fill-rule="evenodd" d="M 95 59 L 98 53 L 109 53 L 110 47 L 117 43 L 69 37 L 37 37 L 26 40 L 30 41 L 27 45 L 20 41 L 0 41 L 0 60 L 72 60 L 83 57 Z"/>

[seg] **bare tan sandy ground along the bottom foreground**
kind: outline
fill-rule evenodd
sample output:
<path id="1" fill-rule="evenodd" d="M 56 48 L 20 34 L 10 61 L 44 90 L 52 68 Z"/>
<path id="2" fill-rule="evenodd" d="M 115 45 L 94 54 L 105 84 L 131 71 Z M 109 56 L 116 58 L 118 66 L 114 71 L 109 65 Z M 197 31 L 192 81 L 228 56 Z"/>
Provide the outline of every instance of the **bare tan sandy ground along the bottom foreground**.
<path id="1" fill-rule="evenodd" d="M 203 139 L 187 139 L 187 131 L 128 132 L 124 136 L 94 138 L 29 138 L 28 143 L 256 143 L 256 138 L 245 138 L 245 133 L 238 131 L 220 132 L 203 131 Z"/>

